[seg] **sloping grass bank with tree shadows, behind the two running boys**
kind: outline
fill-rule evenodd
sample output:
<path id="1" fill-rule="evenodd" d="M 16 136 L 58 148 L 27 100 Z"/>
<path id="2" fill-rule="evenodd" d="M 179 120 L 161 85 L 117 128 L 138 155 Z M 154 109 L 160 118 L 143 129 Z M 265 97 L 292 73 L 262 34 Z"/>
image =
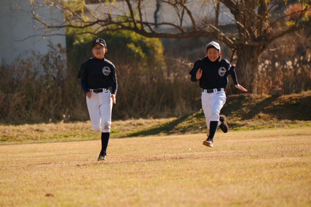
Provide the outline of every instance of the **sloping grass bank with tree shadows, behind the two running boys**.
<path id="1" fill-rule="evenodd" d="M 311 91 L 281 97 L 228 96 L 221 114 L 226 115 L 229 130 L 233 131 L 310 127 Z M 112 121 L 111 128 L 113 138 L 208 133 L 202 109 L 178 118 Z M 0 144 L 95 139 L 100 139 L 100 133 L 91 129 L 89 121 L 0 125 Z"/>

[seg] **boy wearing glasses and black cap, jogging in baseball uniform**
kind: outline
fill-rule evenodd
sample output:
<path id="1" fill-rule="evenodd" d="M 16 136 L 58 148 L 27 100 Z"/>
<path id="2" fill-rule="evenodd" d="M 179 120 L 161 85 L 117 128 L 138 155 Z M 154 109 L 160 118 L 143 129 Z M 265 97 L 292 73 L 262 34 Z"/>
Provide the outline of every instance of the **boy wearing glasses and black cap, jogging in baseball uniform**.
<path id="1" fill-rule="evenodd" d="M 97 160 L 106 159 L 110 137 L 112 103 L 116 104 L 117 75 L 114 64 L 105 59 L 106 42 L 97 38 L 92 43 L 94 57 L 82 63 L 78 78 L 86 95 L 92 129 L 101 131 L 101 151 Z M 112 87 L 110 92 L 109 87 Z"/>

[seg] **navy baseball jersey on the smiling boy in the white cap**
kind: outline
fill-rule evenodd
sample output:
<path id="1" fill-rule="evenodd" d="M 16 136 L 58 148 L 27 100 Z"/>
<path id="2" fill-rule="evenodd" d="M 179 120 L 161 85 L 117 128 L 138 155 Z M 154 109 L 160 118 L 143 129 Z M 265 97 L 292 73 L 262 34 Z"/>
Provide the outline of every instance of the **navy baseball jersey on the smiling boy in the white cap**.
<path id="1" fill-rule="evenodd" d="M 202 89 L 226 88 L 228 75 L 231 75 L 235 85 L 238 84 L 234 68 L 229 61 L 221 59 L 220 56 L 215 62 L 210 61 L 206 56 L 194 63 L 189 74 L 191 75 L 191 81 L 195 82 L 197 81 L 197 71 L 202 69 L 202 77 L 199 79 L 199 85 Z"/>

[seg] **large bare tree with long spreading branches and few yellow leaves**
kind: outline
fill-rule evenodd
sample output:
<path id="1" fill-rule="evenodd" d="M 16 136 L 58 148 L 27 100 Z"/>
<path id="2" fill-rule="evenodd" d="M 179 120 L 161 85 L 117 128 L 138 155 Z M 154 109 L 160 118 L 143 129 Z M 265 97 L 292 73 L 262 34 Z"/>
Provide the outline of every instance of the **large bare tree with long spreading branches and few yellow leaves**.
<path id="1" fill-rule="evenodd" d="M 221 41 L 236 55 L 241 84 L 251 92 L 256 92 L 258 63 L 267 46 L 310 24 L 310 0 L 98 0 L 93 6 L 76 1 L 76 8 L 70 1 L 62 0 L 31 0 L 30 3 L 34 19 L 48 29 L 92 27 L 93 30 L 87 33 L 131 30 L 150 38 L 208 37 Z M 161 21 L 148 19 L 150 8 L 153 8 L 152 14 L 159 13 L 156 11 L 159 4 L 161 8 L 169 8 L 170 17 L 163 17 Z M 299 9 L 284 12 L 292 4 L 299 5 Z M 39 7 L 62 11 L 66 21 L 59 25 L 49 24 L 36 13 Z M 207 12 L 211 7 L 213 16 Z M 220 15 L 227 16 L 231 22 L 227 26 L 220 24 Z M 163 27 L 173 29 L 158 29 Z"/>

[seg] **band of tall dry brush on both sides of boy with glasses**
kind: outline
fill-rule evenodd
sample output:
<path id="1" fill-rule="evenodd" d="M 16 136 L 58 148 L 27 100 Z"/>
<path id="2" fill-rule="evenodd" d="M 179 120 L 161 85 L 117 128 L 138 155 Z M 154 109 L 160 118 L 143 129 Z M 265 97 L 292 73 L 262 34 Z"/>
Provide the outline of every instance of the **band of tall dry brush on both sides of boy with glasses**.
<path id="1" fill-rule="evenodd" d="M 80 57 L 80 63 L 67 56 L 67 62 L 66 51 L 60 45 L 49 47 L 47 55 L 33 53 L 27 60 L 1 65 L 0 122 L 89 119 L 85 95 L 77 79 L 77 64 L 90 56 Z M 200 102 L 195 99 L 200 90 L 189 81 L 192 65 L 170 58 L 152 62 L 152 55 L 137 61 L 121 52 L 122 48 L 109 57 L 118 76 L 113 119 L 172 117 L 199 109 Z"/>

